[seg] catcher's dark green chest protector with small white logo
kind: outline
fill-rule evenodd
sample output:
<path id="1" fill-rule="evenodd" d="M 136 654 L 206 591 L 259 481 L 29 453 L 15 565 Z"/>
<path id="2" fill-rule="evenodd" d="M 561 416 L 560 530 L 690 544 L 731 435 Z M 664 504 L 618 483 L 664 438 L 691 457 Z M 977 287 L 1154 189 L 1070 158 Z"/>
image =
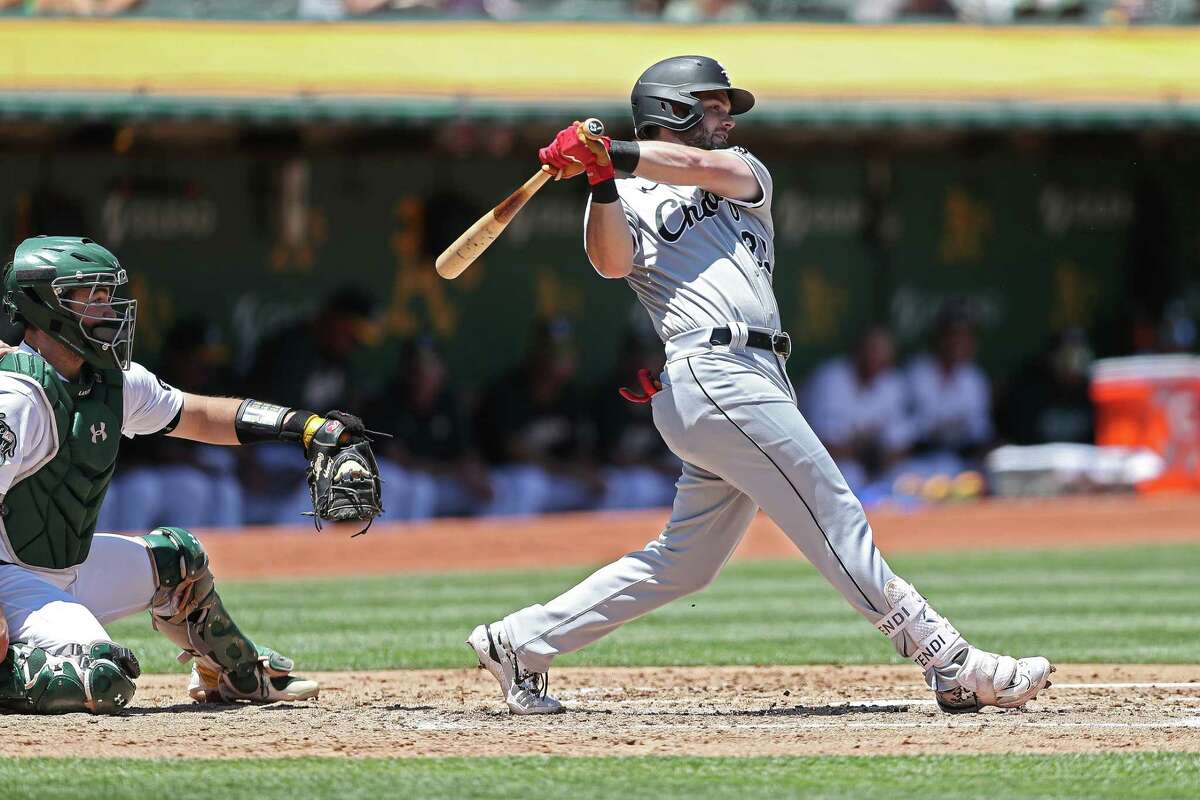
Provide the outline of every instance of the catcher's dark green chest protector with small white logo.
<path id="1" fill-rule="evenodd" d="M 54 411 L 59 450 L 20 479 L 0 505 L 8 552 L 29 566 L 65 570 L 88 558 L 121 439 L 119 369 L 98 371 L 90 389 L 28 353 L 0 359 L 0 371 L 36 380 Z"/>

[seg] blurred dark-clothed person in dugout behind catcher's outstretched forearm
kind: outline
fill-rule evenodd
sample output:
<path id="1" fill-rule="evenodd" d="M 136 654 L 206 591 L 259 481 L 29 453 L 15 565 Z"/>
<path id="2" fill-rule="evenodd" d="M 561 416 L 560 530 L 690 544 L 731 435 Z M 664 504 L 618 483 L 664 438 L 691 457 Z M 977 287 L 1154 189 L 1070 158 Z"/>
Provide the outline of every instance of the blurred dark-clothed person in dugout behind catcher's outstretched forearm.
<path id="1" fill-rule="evenodd" d="M 364 375 L 355 360 L 374 338 L 372 295 L 354 285 L 330 294 L 316 313 L 268 337 L 254 356 L 246 390 L 268 402 L 298 398 L 302 408 L 361 407 Z M 317 403 L 317 407 L 308 405 Z M 247 523 L 302 522 L 312 510 L 305 480 L 307 461 L 278 443 L 239 453 Z M 281 487 L 290 486 L 288 491 Z"/>

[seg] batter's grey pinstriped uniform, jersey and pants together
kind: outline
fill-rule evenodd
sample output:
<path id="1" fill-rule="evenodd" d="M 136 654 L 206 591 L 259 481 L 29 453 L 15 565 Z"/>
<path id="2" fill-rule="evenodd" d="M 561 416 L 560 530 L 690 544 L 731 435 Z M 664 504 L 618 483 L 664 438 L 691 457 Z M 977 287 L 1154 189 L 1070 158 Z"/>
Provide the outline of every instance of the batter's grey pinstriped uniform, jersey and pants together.
<path id="1" fill-rule="evenodd" d="M 545 672 L 554 656 L 707 585 L 760 507 L 868 620 L 889 608 L 883 589 L 893 572 L 862 505 L 800 415 L 782 357 L 742 344 L 752 329 L 781 325 L 770 173 L 745 150 L 732 152 L 758 179 L 755 203 L 695 186 L 617 181 L 635 245 L 628 281 L 666 344 L 654 422 L 683 459 L 683 475 L 656 540 L 503 620 L 529 670 Z M 714 327 L 730 327 L 734 341 L 709 344 Z M 907 634 L 893 640 L 901 655 L 913 649 Z M 932 685 L 934 675 L 926 679 Z"/>

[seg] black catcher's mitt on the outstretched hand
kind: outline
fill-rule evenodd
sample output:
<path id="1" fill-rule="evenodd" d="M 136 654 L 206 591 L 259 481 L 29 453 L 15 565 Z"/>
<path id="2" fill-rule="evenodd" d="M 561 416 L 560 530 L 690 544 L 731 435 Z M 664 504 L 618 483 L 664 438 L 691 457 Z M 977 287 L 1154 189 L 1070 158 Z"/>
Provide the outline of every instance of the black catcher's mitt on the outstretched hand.
<path id="1" fill-rule="evenodd" d="M 330 411 L 308 443 L 308 492 L 313 522 L 365 522 L 355 536 L 367 533 L 383 513 L 379 465 L 371 451 L 362 420 Z"/>

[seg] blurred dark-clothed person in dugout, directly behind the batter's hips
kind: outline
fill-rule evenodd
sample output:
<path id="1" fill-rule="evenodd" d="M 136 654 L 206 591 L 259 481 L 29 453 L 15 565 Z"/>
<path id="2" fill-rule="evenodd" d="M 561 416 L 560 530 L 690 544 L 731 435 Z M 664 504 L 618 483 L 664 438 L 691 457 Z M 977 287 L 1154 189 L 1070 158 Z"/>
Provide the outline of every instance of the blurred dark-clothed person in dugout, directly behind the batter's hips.
<path id="1" fill-rule="evenodd" d="M 641 312 L 641 308 L 636 311 Z M 658 509 L 674 500 L 676 479 L 683 463 L 662 441 L 650 413 L 649 396 L 636 392 L 638 369 L 650 375 L 662 372 L 662 343 L 638 314 L 638 326 L 626 331 L 613 368 L 593 390 L 592 408 L 596 425 L 596 461 L 604 494 L 599 507 Z M 632 386 L 626 399 L 619 386 Z M 647 402 L 641 402 L 641 397 Z"/>

